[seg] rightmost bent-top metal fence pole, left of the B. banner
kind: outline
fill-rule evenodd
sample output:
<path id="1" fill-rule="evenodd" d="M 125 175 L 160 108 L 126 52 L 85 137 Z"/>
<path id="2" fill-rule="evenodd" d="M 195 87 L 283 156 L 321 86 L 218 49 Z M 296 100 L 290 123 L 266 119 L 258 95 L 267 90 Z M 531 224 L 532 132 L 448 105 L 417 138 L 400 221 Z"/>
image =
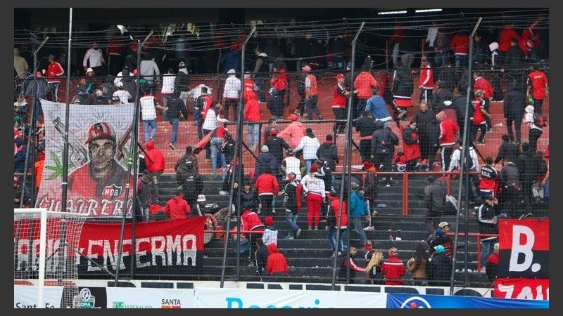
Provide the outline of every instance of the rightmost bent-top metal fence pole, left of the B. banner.
<path id="1" fill-rule="evenodd" d="M 469 60 L 468 62 L 468 74 L 467 76 L 469 76 L 469 78 L 471 78 L 472 76 L 472 59 L 473 59 L 473 37 L 475 35 L 475 32 L 477 31 L 477 28 L 479 27 L 479 24 L 481 23 L 481 20 L 483 18 L 479 18 L 475 24 L 475 27 L 473 28 L 473 31 L 471 32 L 471 35 L 469 36 Z M 463 185 L 463 181 L 465 180 L 466 182 L 466 191 L 472 190 L 471 187 L 469 187 L 469 170 L 466 171 L 467 175 L 464 175 L 464 161 L 468 162 L 467 159 L 469 158 L 469 150 L 467 150 L 467 147 L 469 144 L 469 107 L 472 106 L 471 103 L 471 96 L 469 96 L 469 93 L 471 93 L 471 79 L 469 79 L 469 82 L 467 84 L 467 96 L 466 96 L 466 106 L 465 106 L 465 120 L 463 122 L 463 143 L 462 143 L 462 154 L 460 157 L 460 184 L 457 187 L 457 213 L 455 216 L 455 236 L 454 236 L 454 246 L 453 246 L 453 258 L 452 258 L 452 270 L 450 273 L 450 295 L 453 295 L 453 282 L 454 282 L 454 278 L 455 278 L 455 262 L 456 262 L 456 254 L 457 254 L 457 239 L 458 239 L 458 234 L 459 234 L 459 228 L 460 228 L 460 212 L 461 212 L 461 202 L 462 202 L 462 185 Z M 468 254 L 467 251 L 469 249 L 469 195 L 467 194 L 467 192 L 465 192 L 465 263 L 464 263 L 464 275 L 465 275 L 465 284 L 468 283 L 468 277 L 469 275 L 467 275 L 467 260 L 468 260 Z"/>

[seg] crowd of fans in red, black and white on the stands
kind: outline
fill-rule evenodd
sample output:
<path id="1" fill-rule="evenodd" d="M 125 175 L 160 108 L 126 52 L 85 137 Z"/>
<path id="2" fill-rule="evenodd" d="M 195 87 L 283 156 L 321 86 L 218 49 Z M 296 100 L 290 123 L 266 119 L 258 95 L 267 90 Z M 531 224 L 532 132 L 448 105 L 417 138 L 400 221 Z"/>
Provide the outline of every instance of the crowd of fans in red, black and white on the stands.
<path id="1" fill-rule="evenodd" d="M 510 25 L 507 25 L 507 29 L 510 29 Z M 532 29 L 531 27 L 529 30 Z M 237 77 L 240 70 L 236 67 L 236 62 L 230 62 L 228 58 L 222 60 L 227 78 L 224 80 L 222 98 L 214 100 L 208 86 L 189 88 L 189 71 L 184 60 L 177 64 L 177 72 L 170 68 L 161 75 L 159 66 L 148 52 L 144 53 L 139 69 L 136 64 L 125 63 L 122 68 L 112 70 L 120 70 L 112 80 L 100 81 L 101 77 L 96 76 L 106 74 L 103 67 L 105 60 L 101 49 L 96 43 L 92 43 L 84 55 L 85 76 L 80 78 L 75 87 L 72 103 L 123 104 L 139 98 L 146 152 L 145 168 L 137 181 L 136 197 L 139 202 L 138 215 L 144 221 L 150 218 L 151 204 L 165 204 L 163 213 L 173 219 L 207 213 L 205 210 L 202 213 L 201 210 L 201 203 L 205 202 L 205 196 L 201 195 L 204 184 L 195 156 L 203 150 L 205 162 L 210 162 L 211 172 L 224 173 L 221 192 L 227 194 L 230 184 L 236 182 L 236 169 L 244 167 L 241 159 L 237 159 L 234 153 L 234 136 L 224 128 L 224 124 L 229 122 L 229 117 L 236 119 L 239 107 L 243 106 L 243 119 L 248 123 L 248 150 L 257 154 L 257 157 L 253 171 L 248 172 L 248 178 L 244 178 L 242 183 L 236 182 L 233 187 L 237 191 L 241 190 L 243 196 L 243 203 L 235 206 L 242 214 L 238 229 L 244 232 L 243 235 L 248 235 L 248 244 L 251 245 L 248 258 L 257 268 L 258 275 L 288 275 L 286 260 L 277 249 L 278 232 L 272 221 L 272 216 L 279 211 L 275 202 L 281 196 L 282 209 L 289 226 L 285 239 L 301 236 L 301 230 L 305 230 L 305 227 L 299 227 L 297 218 L 306 209 L 307 230 L 322 229 L 321 218 L 326 218 L 327 244 L 333 251 L 332 258 L 345 257 L 341 258 L 343 268 L 340 277 L 346 277 L 343 271 L 350 270 L 365 272 L 366 277 L 372 279 L 370 282 L 379 282 L 379 279 L 384 280 L 385 284 L 402 284 L 401 279 L 406 269 L 397 258 L 398 249 L 389 249 L 388 258 L 384 259 L 381 251 L 372 252 L 371 242 L 365 234 L 365 230 L 373 229 L 372 220 L 377 214 L 374 204 L 378 199 L 379 180 L 386 186 L 393 183 L 391 176 L 378 179 L 377 172 L 424 172 L 435 171 L 436 168 L 443 173 L 457 170 L 474 172 L 469 187 L 465 189 L 470 204 L 480 205 L 477 217 L 483 234 L 496 233 L 495 224 L 499 216 L 518 218 L 522 211 L 522 201 L 524 211 L 531 212 L 534 202 L 545 202 L 549 195 L 549 169 L 543 160 L 548 157 L 548 153 L 538 151 L 538 139 L 547 126 L 543 113 L 548 111 L 543 108 L 543 104 L 548 96 L 548 79 L 545 72 L 532 62 L 535 38 L 527 39 L 522 46 L 520 43 L 523 36 L 517 34 L 516 37 L 512 31 L 505 32 L 503 29 L 498 42 L 489 45 L 488 52 L 485 49 L 480 55 L 474 55 L 474 58 L 481 58 L 476 61 L 478 65 L 488 67 L 486 72 L 483 72 L 483 67 L 479 67 L 480 70 L 468 74 L 463 67 L 467 64 L 465 58 L 469 49 L 467 34 L 456 33 L 450 39 L 449 46 L 444 46 L 439 35 L 438 31 L 436 38 L 430 40 L 429 47 L 434 47 L 435 51 L 422 56 L 418 70 L 411 71 L 412 62 L 407 53 L 401 56 L 405 57 L 403 60 L 394 62 L 393 81 L 387 91 L 384 91 L 386 83 L 372 74 L 373 60 L 369 56 L 359 67 L 360 72 L 352 78 L 352 65 L 347 62 L 346 54 L 338 54 L 343 57 L 336 61 L 341 72 L 334 76 L 331 98 L 336 121 L 332 133 L 322 138 L 315 135 L 313 127 L 305 126 L 301 121 L 323 121 L 319 110 L 319 82 L 314 72 L 319 63 L 309 61 L 298 65 L 297 68 L 301 70 L 298 75 L 301 100 L 296 105 L 295 112 L 286 117 L 290 121 L 288 126 L 278 129 L 277 120 L 284 119 L 285 105 L 282 100 L 288 90 L 287 65 L 281 58 L 268 58 L 266 50 L 260 47 L 255 51 L 253 72 L 245 73 L 242 81 Z M 479 37 L 474 40 L 479 42 Z M 448 48 L 453 52 L 453 58 L 444 55 Z M 15 51 L 15 67 L 17 55 Z M 451 65 L 452 61 L 455 67 Z M 25 67 L 19 58 L 17 65 Z M 519 67 L 527 67 L 527 74 L 524 75 Z M 15 70 L 18 73 L 20 71 L 17 68 Z M 504 76 L 506 93 L 502 93 L 502 86 L 499 88 L 499 83 L 495 81 L 501 80 L 497 70 Z M 139 82 L 135 82 L 134 74 L 137 72 L 141 77 Z M 26 108 L 25 105 L 27 99 L 27 103 L 34 107 L 32 119 L 39 121 L 42 110 L 37 100 L 47 98 L 57 101 L 58 85 L 64 74 L 63 66 L 54 56 L 49 56 L 46 74 L 36 72 L 36 80 L 16 100 L 18 113 L 29 112 L 29 107 Z M 413 78 L 417 77 L 418 82 L 413 82 Z M 140 86 L 139 96 L 137 85 Z M 415 86 L 420 92 L 419 111 L 409 118 L 407 109 L 415 106 L 412 103 Z M 162 105 L 156 97 L 157 88 L 160 88 Z M 472 91 L 469 104 L 466 101 L 468 88 Z M 241 97 L 243 105 L 239 104 Z M 190 98 L 193 106 L 189 106 Z M 340 164 L 341 148 L 336 145 L 334 137 L 346 131 L 346 107 L 350 99 L 353 106 L 353 126 L 349 127 L 360 135 L 359 151 L 365 180 L 362 183 L 350 183 L 350 192 L 345 192 L 345 197 L 339 197 L 336 192 L 339 192 L 338 185 L 343 185 L 343 181 L 337 183 L 334 172 Z M 480 166 L 476 146 L 486 144 L 487 134 L 493 129 L 490 105 L 495 99 L 503 100 L 507 133 L 502 136 L 503 143 L 498 149 L 497 157 L 481 157 L 485 164 Z M 267 103 L 267 109 L 270 110 L 269 124 L 263 132 L 257 123 L 260 121 L 260 103 Z M 157 110 L 163 112 L 163 119 L 172 126 L 168 142 L 172 150 L 177 149 L 179 120 L 188 119 L 190 114 L 197 126 L 200 140 L 195 148 L 186 147 L 185 154 L 177 160 L 175 171 L 179 187 L 175 197 L 167 202 L 160 200 L 158 189 L 158 181 L 165 170 L 165 156 L 154 145 Z M 23 115 L 18 114 L 18 117 L 18 120 L 23 120 Z M 466 118 L 469 126 L 465 126 Z M 407 125 L 402 126 L 400 122 L 405 120 Z M 391 128 L 393 122 L 400 128 L 399 134 Z M 521 138 L 521 122 L 528 129 L 527 141 Z M 27 124 L 26 121 L 24 123 Z M 27 152 L 25 131 L 22 131 L 20 125 L 18 121 L 15 122 L 15 204 L 20 202 L 22 195 L 16 189 L 23 180 L 23 158 Z M 259 141 L 260 138 L 262 142 Z M 403 141 L 402 151 L 396 150 L 400 140 Z M 264 145 L 258 148 L 260 143 Z M 466 151 L 469 154 L 463 157 Z M 439 157 L 437 164 L 436 156 Z M 496 169 L 498 163 L 502 164 L 500 169 Z M 401 166 L 404 169 L 400 169 Z M 38 178 L 37 173 L 35 178 Z M 430 285 L 443 285 L 448 281 L 451 270 L 453 244 L 448 240 L 440 242 L 448 239 L 449 225 L 440 219 L 446 197 L 443 186 L 436 184 L 437 180 L 436 177 L 429 176 L 428 185 L 424 189 L 428 210 L 425 224 L 428 232 L 436 236 L 429 242 L 431 260 L 424 258 L 426 251 L 417 249 L 416 257 L 407 262 L 407 269 L 420 284 L 428 281 Z M 35 184 L 37 187 L 37 183 Z M 348 196 L 350 218 L 346 214 Z M 366 228 L 363 227 L 364 220 L 367 221 Z M 262 237 L 255 238 L 255 234 L 248 234 L 253 231 L 262 232 Z M 358 244 L 348 244 L 350 231 L 358 235 L 358 239 L 353 239 Z M 495 253 L 493 237 L 482 239 L 482 266 L 488 265 L 489 255 Z M 366 257 L 366 268 L 354 261 L 358 248 L 367 254 L 372 253 L 369 259 Z M 353 279 L 353 274 L 350 277 Z"/>

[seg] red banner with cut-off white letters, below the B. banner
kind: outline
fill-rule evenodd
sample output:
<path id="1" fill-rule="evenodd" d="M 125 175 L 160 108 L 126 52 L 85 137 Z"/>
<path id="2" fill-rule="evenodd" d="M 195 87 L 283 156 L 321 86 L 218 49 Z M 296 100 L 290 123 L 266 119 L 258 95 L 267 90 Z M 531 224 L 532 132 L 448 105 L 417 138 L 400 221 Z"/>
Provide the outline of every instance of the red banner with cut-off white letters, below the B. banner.
<path id="1" fill-rule="evenodd" d="M 493 297 L 549 300 L 549 279 L 496 279 Z"/>

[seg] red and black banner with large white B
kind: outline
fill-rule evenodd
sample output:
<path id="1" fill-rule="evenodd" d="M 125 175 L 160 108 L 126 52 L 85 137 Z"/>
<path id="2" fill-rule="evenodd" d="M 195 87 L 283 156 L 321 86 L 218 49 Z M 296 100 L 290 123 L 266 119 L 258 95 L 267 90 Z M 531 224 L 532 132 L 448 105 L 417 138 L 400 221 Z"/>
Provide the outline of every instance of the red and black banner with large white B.
<path id="1" fill-rule="evenodd" d="M 498 277 L 549 278 L 549 219 L 498 221 Z"/>

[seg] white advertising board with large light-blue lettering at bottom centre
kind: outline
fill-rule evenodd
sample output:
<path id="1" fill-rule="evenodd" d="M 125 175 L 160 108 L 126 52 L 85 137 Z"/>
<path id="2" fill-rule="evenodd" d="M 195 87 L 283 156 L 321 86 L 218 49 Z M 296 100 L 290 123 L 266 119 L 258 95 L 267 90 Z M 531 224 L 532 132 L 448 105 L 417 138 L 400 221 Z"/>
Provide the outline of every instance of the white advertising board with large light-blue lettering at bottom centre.
<path id="1" fill-rule="evenodd" d="M 194 296 L 194 308 L 385 308 L 386 304 L 387 294 L 341 291 L 196 289 Z"/>

